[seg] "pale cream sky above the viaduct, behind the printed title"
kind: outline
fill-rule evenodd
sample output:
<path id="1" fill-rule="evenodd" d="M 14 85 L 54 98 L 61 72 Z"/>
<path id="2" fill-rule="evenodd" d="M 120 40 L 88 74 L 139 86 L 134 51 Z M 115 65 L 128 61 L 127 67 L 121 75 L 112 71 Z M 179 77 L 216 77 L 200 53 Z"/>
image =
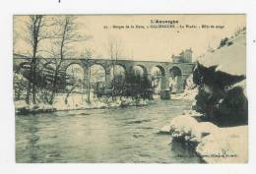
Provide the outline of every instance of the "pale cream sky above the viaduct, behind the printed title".
<path id="1" fill-rule="evenodd" d="M 171 61 L 171 56 L 191 48 L 193 59 L 204 54 L 209 46 L 216 48 L 224 37 L 246 26 L 245 15 L 96 15 L 76 16 L 78 32 L 91 39 L 74 46 L 80 55 L 93 50 L 95 58 L 109 58 L 109 40 L 118 40 L 120 59 Z M 23 40 L 28 16 L 14 16 L 16 37 L 14 50 L 30 51 Z M 157 21 L 174 21 L 174 28 L 151 28 Z M 209 28 L 203 29 L 202 25 Z M 116 28 L 113 28 L 115 26 Z M 126 29 L 129 26 L 129 29 Z M 140 27 L 140 28 L 136 28 Z M 212 26 L 212 28 L 211 28 Z M 124 27 L 124 29 L 122 29 Z M 134 28 L 132 28 L 134 27 Z M 182 28 L 183 27 L 183 28 Z M 220 28 L 219 28 L 220 27 Z M 144 29 L 143 29 L 144 28 Z"/>

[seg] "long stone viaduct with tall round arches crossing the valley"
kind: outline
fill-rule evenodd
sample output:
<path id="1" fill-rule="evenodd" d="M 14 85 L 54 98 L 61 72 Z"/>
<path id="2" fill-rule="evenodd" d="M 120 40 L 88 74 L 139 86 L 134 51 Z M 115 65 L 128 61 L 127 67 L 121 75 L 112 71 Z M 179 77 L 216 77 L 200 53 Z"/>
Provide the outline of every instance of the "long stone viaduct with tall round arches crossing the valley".
<path id="1" fill-rule="evenodd" d="M 42 65 L 50 64 L 57 59 L 53 58 L 37 58 Z M 14 55 L 14 66 L 22 67 L 25 64 L 30 64 L 31 58 Z M 88 67 L 93 65 L 100 65 L 105 72 L 105 86 L 110 86 L 111 68 L 113 61 L 110 59 L 65 59 L 61 64 L 61 69 L 66 72 L 66 69 L 73 64 L 80 65 L 84 70 L 84 77 L 87 76 Z M 139 66 L 143 69 L 144 75 L 151 80 L 151 70 L 154 67 L 160 69 L 160 98 L 168 99 L 170 94 L 169 78 L 177 77 L 177 92 L 184 89 L 184 83 L 193 72 L 195 63 L 172 63 L 161 61 L 138 61 L 138 60 L 116 60 L 114 65 L 123 67 L 126 75 L 132 72 L 134 66 Z"/>

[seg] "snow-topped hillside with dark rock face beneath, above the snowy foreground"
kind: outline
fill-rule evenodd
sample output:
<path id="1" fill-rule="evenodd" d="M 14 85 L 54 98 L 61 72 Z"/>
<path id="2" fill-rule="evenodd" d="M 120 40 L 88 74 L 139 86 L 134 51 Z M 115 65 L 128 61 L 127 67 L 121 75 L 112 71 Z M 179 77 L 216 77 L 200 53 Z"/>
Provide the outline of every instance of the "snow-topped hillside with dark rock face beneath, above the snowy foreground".
<path id="1" fill-rule="evenodd" d="M 224 40 L 201 57 L 194 69 L 193 82 L 198 87 L 194 109 L 218 126 L 247 125 L 245 28 Z"/>

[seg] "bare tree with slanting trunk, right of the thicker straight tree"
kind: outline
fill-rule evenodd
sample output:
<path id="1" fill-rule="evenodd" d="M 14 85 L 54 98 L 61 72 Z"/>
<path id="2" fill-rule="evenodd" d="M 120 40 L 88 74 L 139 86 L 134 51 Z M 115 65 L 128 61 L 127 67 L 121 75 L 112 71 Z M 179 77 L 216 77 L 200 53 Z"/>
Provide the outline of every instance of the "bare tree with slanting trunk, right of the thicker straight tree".
<path id="1" fill-rule="evenodd" d="M 54 96 L 57 92 L 58 74 L 62 62 L 66 57 L 71 57 L 74 54 L 72 52 L 72 45 L 90 38 L 90 36 L 79 34 L 78 25 L 74 16 L 56 17 L 54 35 L 52 52 L 55 57 L 56 68 L 51 88 L 50 104 L 53 103 Z"/>

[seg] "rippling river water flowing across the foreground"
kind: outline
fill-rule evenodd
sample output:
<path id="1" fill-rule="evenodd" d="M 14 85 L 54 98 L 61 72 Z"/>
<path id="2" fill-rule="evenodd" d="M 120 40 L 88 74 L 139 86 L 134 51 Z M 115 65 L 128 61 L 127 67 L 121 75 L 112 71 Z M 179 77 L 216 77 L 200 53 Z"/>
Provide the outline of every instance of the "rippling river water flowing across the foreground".
<path id="1" fill-rule="evenodd" d="M 143 107 L 16 116 L 17 162 L 200 162 L 160 128 L 190 109 L 182 100 Z"/>

